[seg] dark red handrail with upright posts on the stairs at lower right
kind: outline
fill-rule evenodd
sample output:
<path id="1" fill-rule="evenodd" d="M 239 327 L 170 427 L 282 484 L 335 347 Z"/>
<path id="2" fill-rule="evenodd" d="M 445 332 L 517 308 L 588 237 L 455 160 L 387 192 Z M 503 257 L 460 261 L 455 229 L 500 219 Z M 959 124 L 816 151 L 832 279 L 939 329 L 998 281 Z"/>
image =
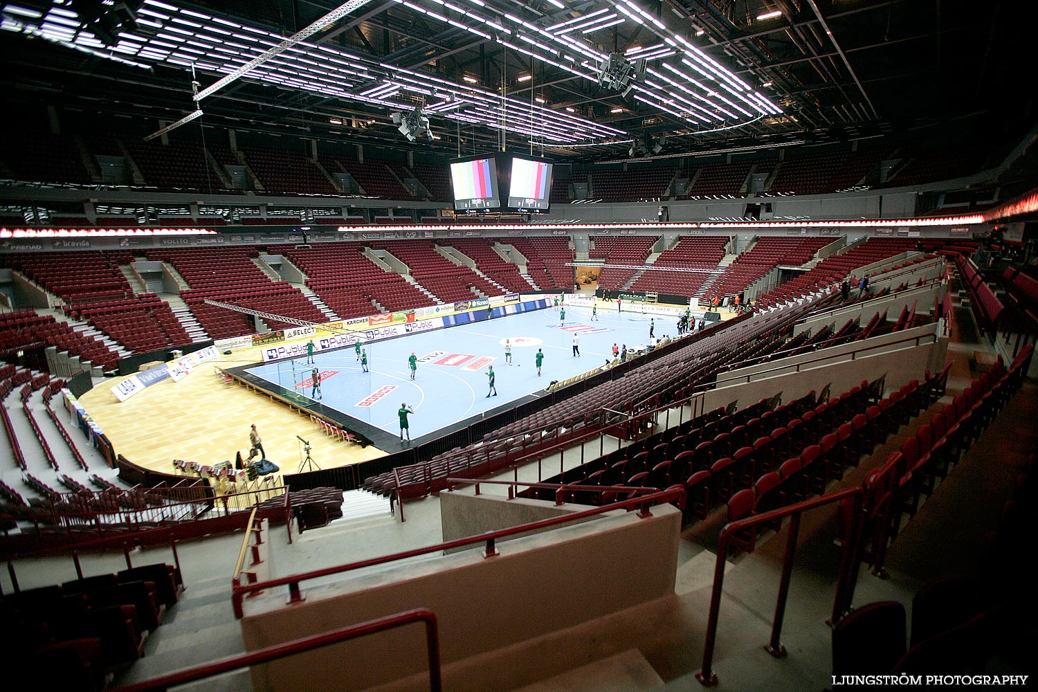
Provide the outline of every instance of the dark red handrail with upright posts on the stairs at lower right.
<path id="1" fill-rule="evenodd" d="M 862 560 L 862 501 L 864 491 L 862 488 L 848 488 L 823 495 L 821 497 L 797 502 L 787 507 L 780 507 L 762 515 L 755 515 L 746 519 L 731 522 L 721 529 L 720 539 L 717 543 L 717 560 L 714 563 L 713 592 L 710 596 L 710 614 L 707 620 L 706 641 L 703 644 L 703 667 L 695 673 L 695 680 L 700 681 L 704 687 L 713 687 L 717 684 L 717 675 L 713 671 L 714 642 L 717 639 L 717 617 L 720 612 L 721 586 L 725 583 L 725 561 L 728 558 L 729 541 L 732 534 L 741 529 L 746 529 L 761 524 L 772 522 L 776 519 L 790 517 L 789 532 L 786 538 L 786 553 L 783 557 L 782 579 L 778 583 L 778 597 L 775 603 L 774 621 L 771 627 L 771 640 L 767 648 L 768 653 L 774 657 L 786 655 L 786 647 L 778 641 L 782 634 L 783 618 L 786 614 L 786 599 L 789 596 L 789 582 L 793 573 L 793 557 L 796 554 L 796 539 L 800 530 L 800 515 L 808 509 L 814 509 L 832 502 L 839 502 L 845 498 L 854 499 L 854 520 L 851 527 L 851 538 L 844 544 L 843 557 L 840 561 L 840 575 L 837 578 L 837 592 L 832 602 L 832 621 L 845 612 L 854 598 L 854 584 L 857 580 L 857 565 Z"/>

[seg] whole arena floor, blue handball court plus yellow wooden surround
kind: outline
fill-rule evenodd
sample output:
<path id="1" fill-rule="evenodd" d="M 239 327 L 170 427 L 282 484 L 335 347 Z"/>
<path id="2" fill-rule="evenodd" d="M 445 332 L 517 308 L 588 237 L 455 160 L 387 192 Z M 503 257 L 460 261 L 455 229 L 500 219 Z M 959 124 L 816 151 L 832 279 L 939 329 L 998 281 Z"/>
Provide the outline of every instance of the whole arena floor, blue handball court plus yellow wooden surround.
<path id="1" fill-rule="evenodd" d="M 377 341 L 364 347 L 368 370 L 363 372 L 353 349 L 315 354 L 315 363 L 297 359 L 263 363 L 260 348 L 243 349 L 198 366 L 180 382 L 166 380 L 147 387 L 125 403 L 106 381 L 80 397 L 90 417 L 116 450 L 138 466 L 172 471 L 172 461 L 203 465 L 247 456 L 249 425 L 255 423 L 267 459 L 295 471 L 311 445 L 317 465 L 333 468 L 368 461 L 402 448 L 397 411 L 414 408 L 410 416 L 412 441 L 477 418 L 519 400 L 543 394 L 553 380 L 564 381 L 605 364 L 612 343 L 628 349 L 649 340 L 651 315 L 599 302 L 598 320 L 591 308 L 567 306 L 566 320 L 555 308 L 487 320 L 458 327 Z M 677 320 L 655 316 L 655 336 L 677 334 Z M 578 333 L 580 357 L 573 357 L 572 337 Z M 513 365 L 504 360 L 503 341 L 512 341 Z M 535 354 L 545 354 L 537 376 Z M 411 352 L 419 359 L 416 379 L 410 380 Z M 487 397 L 487 368 L 494 366 L 498 396 Z M 312 391 L 312 368 L 321 377 L 321 391 Z M 226 382 L 220 370 L 249 383 Z M 252 389 L 255 388 L 255 389 Z M 267 395 L 267 394 L 270 395 Z M 311 398 L 311 395 L 313 396 Z M 358 432 L 373 444 L 326 437 L 306 412 L 309 409 Z M 365 406 L 358 404 L 366 403 Z M 349 418 L 347 418 L 349 417 Z"/>

